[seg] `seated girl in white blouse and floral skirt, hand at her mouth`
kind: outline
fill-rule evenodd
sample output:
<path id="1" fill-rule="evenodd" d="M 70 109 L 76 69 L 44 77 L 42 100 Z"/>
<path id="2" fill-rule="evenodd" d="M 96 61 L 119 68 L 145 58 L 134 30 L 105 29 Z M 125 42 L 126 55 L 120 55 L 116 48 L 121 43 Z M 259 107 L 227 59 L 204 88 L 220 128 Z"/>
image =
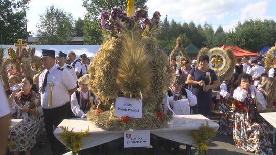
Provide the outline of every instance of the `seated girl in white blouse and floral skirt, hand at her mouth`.
<path id="1" fill-rule="evenodd" d="M 233 97 L 236 110 L 234 112 L 233 139 L 239 148 L 247 152 L 264 155 L 266 153 L 263 150 L 266 150 L 271 154 L 268 148 L 271 143 L 268 132 L 265 130 L 267 127 L 266 123 L 258 124 L 253 120 L 254 109 L 257 105 L 257 91 L 250 83 L 250 75 L 243 73 L 238 80 L 240 86 L 234 90 Z"/>

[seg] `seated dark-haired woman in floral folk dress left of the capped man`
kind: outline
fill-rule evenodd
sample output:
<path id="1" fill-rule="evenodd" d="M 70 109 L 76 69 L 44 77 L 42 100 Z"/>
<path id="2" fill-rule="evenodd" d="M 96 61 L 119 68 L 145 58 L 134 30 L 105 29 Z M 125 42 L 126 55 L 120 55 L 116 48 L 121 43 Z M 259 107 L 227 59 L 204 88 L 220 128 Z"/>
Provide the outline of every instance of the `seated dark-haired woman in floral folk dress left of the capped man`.
<path id="1" fill-rule="evenodd" d="M 10 131 L 10 140 L 15 145 L 10 148 L 10 151 L 13 154 L 25 151 L 25 154 L 28 155 L 36 143 L 41 105 L 38 94 L 32 91 L 33 80 L 30 77 L 25 77 L 21 84 L 22 90 L 14 90 L 9 98 L 17 119 L 23 119 L 22 124 Z"/>

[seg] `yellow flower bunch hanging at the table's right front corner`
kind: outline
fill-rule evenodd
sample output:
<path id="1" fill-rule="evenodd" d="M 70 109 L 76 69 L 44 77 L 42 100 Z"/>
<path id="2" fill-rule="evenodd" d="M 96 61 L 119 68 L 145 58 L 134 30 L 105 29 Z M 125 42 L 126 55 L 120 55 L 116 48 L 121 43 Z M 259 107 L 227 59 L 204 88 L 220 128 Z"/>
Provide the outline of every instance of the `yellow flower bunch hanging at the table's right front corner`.
<path id="1" fill-rule="evenodd" d="M 217 130 L 215 128 L 209 127 L 208 122 L 206 125 L 202 123 L 198 130 L 191 131 L 190 135 L 193 137 L 194 143 L 197 145 L 196 154 L 207 154 L 207 143 L 210 139 L 213 139 L 216 136 L 216 134 Z"/>

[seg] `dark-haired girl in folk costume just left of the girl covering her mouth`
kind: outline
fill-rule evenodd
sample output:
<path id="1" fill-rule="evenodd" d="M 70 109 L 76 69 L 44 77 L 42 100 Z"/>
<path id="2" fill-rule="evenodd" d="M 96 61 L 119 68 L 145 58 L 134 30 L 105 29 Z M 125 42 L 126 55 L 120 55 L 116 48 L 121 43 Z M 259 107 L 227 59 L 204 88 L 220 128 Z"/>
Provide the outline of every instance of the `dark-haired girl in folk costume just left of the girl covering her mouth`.
<path id="1" fill-rule="evenodd" d="M 233 92 L 237 88 L 238 74 L 232 74 L 229 79 L 220 85 L 219 110 L 222 112 L 219 118 L 219 131 L 222 135 L 232 135 L 232 121 L 227 118 L 228 111 L 234 101 Z"/>

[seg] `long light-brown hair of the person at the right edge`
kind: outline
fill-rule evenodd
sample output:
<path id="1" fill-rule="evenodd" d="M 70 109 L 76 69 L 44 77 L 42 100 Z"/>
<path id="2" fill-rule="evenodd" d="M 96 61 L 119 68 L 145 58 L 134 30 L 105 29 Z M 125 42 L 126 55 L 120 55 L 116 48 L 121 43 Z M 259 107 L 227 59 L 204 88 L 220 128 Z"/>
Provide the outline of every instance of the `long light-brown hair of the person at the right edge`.
<path id="1" fill-rule="evenodd" d="M 276 101 L 276 79 L 269 77 L 260 88 L 265 90 L 267 107 L 272 108 L 273 103 Z"/>

